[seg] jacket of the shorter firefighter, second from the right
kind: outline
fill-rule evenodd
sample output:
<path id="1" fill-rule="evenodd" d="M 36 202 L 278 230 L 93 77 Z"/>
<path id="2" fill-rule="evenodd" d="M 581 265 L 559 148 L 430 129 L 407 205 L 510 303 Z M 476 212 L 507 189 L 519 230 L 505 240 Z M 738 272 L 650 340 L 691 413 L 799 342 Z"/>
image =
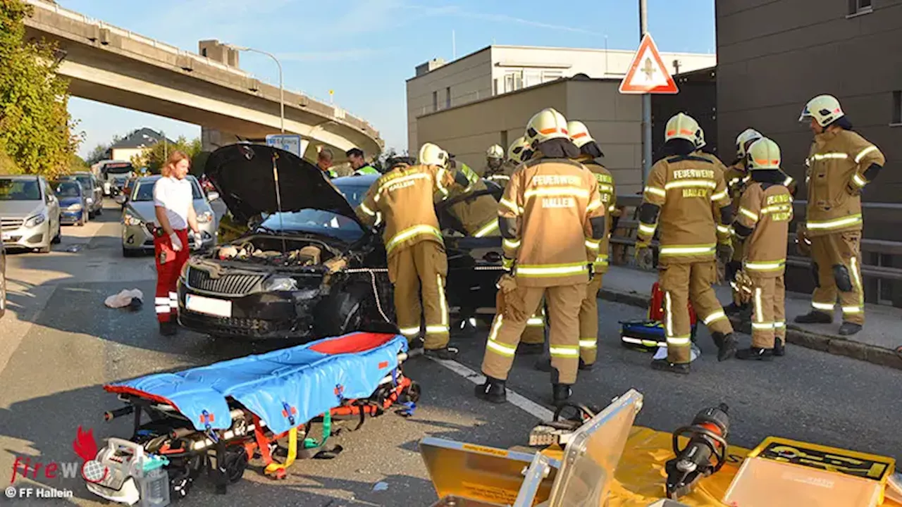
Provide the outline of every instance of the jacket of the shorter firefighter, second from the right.
<path id="1" fill-rule="evenodd" d="M 734 228 L 745 240 L 742 267 L 749 275 L 776 277 L 786 269 L 792 194 L 786 186 L 752 181 L 742 192 Z"/>

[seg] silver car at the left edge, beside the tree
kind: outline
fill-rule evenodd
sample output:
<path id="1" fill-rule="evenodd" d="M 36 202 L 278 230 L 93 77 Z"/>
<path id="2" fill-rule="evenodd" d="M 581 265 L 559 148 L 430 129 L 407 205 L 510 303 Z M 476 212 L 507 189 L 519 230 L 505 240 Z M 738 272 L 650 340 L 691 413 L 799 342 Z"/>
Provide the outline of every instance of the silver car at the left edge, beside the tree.
<path id="1" fill-rule="evenodd" d="M 7 248 L 49 253 L 60 243 L 60 201 L 41 176 L 0 176 L 0 235 Z"/>

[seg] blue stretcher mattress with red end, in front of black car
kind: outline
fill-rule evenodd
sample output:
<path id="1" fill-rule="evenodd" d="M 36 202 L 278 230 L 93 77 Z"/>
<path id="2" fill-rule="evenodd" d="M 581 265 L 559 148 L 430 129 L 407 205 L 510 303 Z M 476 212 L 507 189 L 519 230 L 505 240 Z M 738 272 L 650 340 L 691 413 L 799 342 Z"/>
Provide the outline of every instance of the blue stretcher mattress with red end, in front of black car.
<path id="1" fill-rule="evenodd" d="M 229 428 L 227 399 L 232 398 L 279 434 L 337 407 L 342 399 L 371 396 L 407 349 L 404 336 L 351 333 L 184 372 L 155 373 L 105 389 L 169 403 L 198 431 Z"/>

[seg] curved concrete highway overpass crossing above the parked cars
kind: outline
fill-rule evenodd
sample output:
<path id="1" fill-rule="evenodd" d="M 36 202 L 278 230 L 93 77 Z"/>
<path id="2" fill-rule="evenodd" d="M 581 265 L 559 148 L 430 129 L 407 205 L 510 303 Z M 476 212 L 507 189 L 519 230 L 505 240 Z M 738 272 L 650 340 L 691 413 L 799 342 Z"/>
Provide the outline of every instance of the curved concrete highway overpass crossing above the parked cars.
<path id="1" fill-rule="evenodd" d="M 59 5 L 26 1 L 34 5 L 32 17 L 25 20 L 26 37 L 59 44 L 60 75 L 69 78 L 74 97 L 175 118 L 201 125 L 205 131 L 228 133 L 211 136 L 205 132 L 205 141 L 222 139 L 215 144 L 234 143 L 235 136 L 262 139 L 266 134 L 279 133 L 278 87 L 226 63 L 179 50 Z M 383 146 L 379 132 L 363 119 L 338 106 L 288 90 L 285 131 L 310 139 L 311 147 L 325 144 L 342 152 L 357 146 L 375 154 Z"/>

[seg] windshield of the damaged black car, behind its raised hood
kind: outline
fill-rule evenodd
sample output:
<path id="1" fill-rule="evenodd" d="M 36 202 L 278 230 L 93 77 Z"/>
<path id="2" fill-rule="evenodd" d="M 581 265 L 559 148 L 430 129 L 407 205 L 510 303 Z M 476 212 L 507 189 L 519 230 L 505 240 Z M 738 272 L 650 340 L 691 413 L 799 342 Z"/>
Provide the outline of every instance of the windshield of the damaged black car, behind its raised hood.
<path id="1" fill-rule="evenodd" d="M 345 196 L 351 207 L 357 207 L 366 196 L 367 185 L 336 183 L 336 187 Z M 274 213 L 263 220 L 261 227 L 273 231 L 309 232 L 330 235 L 338 239 L 353 242 L 364 235 L 363 229 L 353 218 L 338 215 L 331 211 L 319 209 L 301 209 L 293 213 Z"/>

